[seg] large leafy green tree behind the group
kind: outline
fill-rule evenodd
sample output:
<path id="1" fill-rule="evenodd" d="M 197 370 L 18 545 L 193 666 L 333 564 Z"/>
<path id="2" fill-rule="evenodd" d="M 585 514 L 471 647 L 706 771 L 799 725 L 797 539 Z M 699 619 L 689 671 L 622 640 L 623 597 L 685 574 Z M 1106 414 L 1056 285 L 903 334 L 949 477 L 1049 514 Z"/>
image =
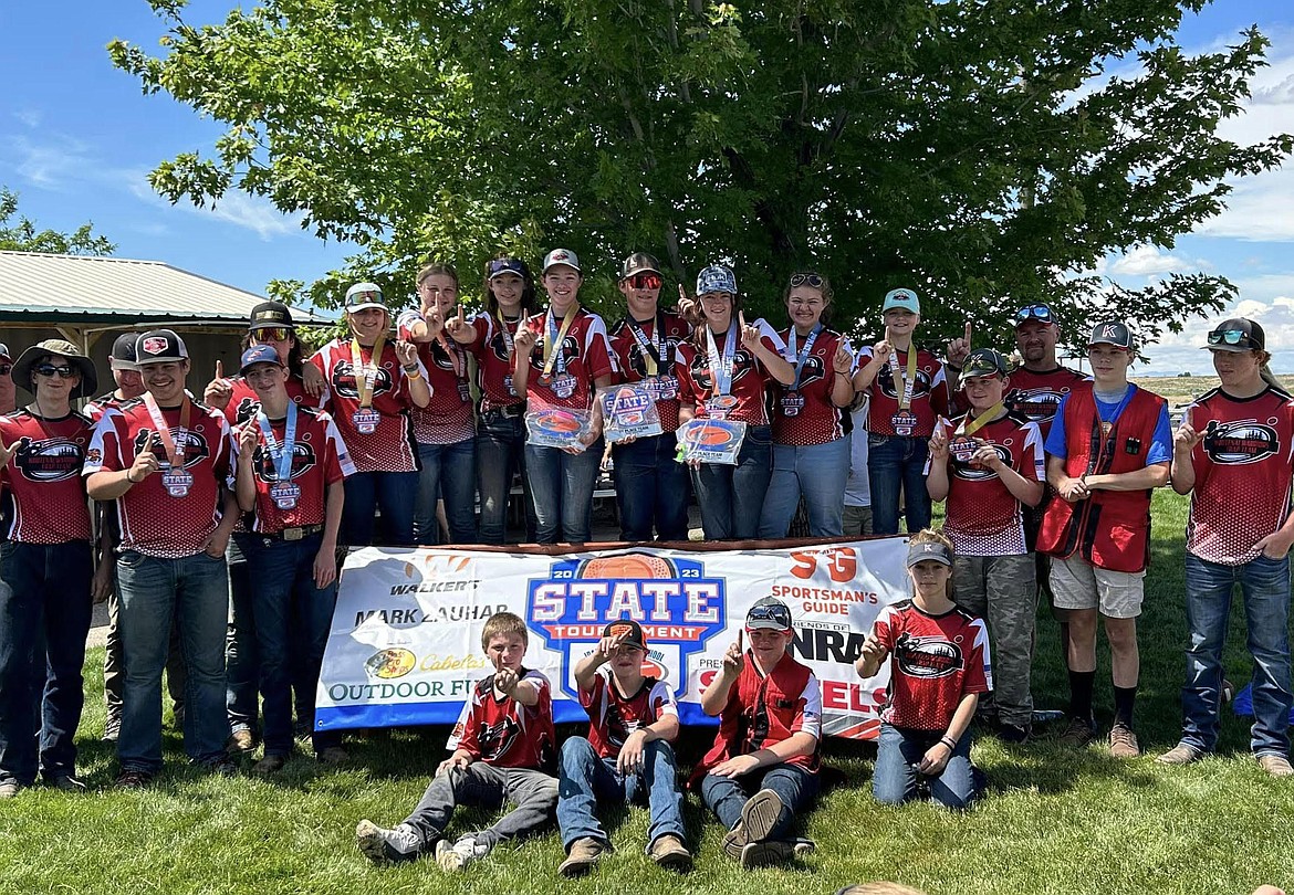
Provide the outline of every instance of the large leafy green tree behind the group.
<path id="1" fill-rule="evenodd" d="M 765 310 L 814 266 L 839 318 L 875 321 L 905 285 L 949 335 L 1047 300 L 1153 336 L 1231 285 L 1083 272 L 1171 247 L 1224 178 L 1294 149 L 1218 136 L 1267 40 L 1184 54 L 1183 12 L 1207 0 L 263 0 L 204 27 L 149 3 L 160 56 L 114 41 L 114 62 L 228 124 L 154 188 L 242 189 L 352 242 L 322 304 L 343 275 L 405 291 L 427 256 L 479 270 L 562 244 L 594 291 L 647 250 L 682 282 L 732 261 Z"/>

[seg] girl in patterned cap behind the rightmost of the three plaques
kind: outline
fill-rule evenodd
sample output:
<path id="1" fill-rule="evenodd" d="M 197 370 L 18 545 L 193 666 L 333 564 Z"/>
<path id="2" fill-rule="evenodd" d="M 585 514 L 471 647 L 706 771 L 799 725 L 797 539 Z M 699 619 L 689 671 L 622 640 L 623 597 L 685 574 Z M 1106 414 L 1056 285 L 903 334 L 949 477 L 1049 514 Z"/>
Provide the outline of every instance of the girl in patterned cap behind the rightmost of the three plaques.
<path id="1" fill-rule="evenodd" d="M 678 422 L 729 419 L 745 423 L 736 466 L 703 463 L 692 468 L 707 541 L 754 538 L 773 468 L 771 429 L 763 402 L 770 380 L 795 382 L 795 369 L 779 353 L 775 334 L 747 326 L 732 269 L 713 264 L 696 277 L 701 318 L 679 344 Z M 844 490 L 844 488 L 841 488 Z"/>

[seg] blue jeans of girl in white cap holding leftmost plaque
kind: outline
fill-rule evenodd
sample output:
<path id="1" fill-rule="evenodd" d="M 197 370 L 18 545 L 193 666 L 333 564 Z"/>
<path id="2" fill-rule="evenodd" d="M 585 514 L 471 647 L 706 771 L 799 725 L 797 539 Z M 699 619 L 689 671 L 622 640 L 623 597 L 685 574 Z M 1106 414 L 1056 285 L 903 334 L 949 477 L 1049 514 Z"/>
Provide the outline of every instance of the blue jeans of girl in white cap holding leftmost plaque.
<path id="1" fill-rule="evenodd" d="M 538 543 L 585 543 L 593 526 L 593 489 L 602 466 L 602 438 L 580 454 L 525 445 L 525 477 L 534 498 Z"/>

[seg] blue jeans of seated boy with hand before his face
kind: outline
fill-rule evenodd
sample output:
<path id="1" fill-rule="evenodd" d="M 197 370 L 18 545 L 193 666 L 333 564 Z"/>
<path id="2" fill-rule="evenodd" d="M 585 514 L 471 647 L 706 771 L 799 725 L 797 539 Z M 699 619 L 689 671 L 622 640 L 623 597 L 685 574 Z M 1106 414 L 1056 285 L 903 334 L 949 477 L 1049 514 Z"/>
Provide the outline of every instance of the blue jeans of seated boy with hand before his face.
<path id="1" fill-rule="evenodd" d="M 582 736 L 562 744 L 558 782 L 558 826 L 562 845 L 571 850 L 576 839 L 593 838 L 609 842 L 598 823 L 599 804 L 624 804 L 646 801 L 651 811 L 647 826 L 647 851 L 663 836 L 683 836 L 683 793 L 678 788 L 678 766 L 674 749 L 664 740 L 653 740 L 643 749 L 643 768 L 621 776 L 615 758 L 598 758 L 593 745 Z"/>

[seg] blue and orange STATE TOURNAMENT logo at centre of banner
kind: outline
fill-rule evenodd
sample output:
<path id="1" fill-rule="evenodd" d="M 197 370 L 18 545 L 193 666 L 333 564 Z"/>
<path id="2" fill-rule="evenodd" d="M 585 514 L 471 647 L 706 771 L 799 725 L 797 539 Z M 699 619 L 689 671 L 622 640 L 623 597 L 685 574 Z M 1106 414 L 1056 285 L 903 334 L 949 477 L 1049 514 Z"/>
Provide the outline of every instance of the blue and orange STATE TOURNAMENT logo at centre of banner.
<path id="1" fill-rule="evenodd" d="M 564 669 L 598 643 L 608 622 L 633 618 L 657 666 L 677 651 L 679 696 L 687 692 L 687 657 L 723 631 L 726 610 L 725 579 L 707 578 L 705 565 L 692 559 L 635 552 L 558 559 L 547 578 L 527 585 L 527 622 L 562 653 Z M 567 675 L 559 680 L 575 698 Z"/>

